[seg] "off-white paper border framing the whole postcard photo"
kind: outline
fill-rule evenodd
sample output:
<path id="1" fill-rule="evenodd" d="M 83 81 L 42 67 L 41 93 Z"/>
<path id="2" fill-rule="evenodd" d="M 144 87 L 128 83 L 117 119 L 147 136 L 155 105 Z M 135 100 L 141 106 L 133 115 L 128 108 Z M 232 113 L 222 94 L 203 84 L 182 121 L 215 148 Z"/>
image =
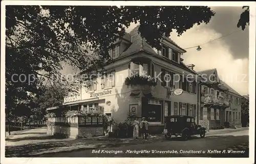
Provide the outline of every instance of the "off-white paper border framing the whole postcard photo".
<path id="1" fill-rule="evenodd" d="M 6 5 L 83 5 L 83 6 L 250 6 L 249 26 L 249 158 L 5 158 L 5 6 Z M 255 3 L 253 2 L 145 2 L 145 1 L 2 1 L 1 2 L 1 163 L 254 163 L 255 126 Z M 248 27 L 247 27 L 248 28 Z M 161 160 L 161 161 L 159 161 Z"/>

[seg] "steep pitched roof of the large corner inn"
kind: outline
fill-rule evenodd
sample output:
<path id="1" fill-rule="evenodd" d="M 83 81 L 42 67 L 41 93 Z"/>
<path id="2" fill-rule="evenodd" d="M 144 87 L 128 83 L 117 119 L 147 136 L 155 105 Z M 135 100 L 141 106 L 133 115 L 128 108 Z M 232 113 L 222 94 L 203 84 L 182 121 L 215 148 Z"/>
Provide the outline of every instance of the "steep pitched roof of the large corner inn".
<path id="1" fill-rule="evenodd" d="M 130 54 L 139 52 L 139 51 L 144 51 L 146 53 L 149 53 L 151 55 L 155 55 L 155 57 L 161 59 L 161 60 L 166 60 L 168 63 L 172 63 L 173 65 L 180 67 L 186 71 L 192 72 L 197 74 L 196 71 L 189 69 L 182 61 L 180 61 L 180 64 L 173 62 L 171 60 L 168 60 L 159 54 L 150 46 L 145 38 L 142 38 L 141 35 L 138 33 L 139 31 L 139 25 L 136 26 L 129 34 L 132 35 L 132 44 L 130 47 L 128 47 L 125 51 L 123 51 L 119 57 L 124 57 L 124 56 L 129 56 Z M 173 43 L 177 47 L 179 47 L 172 39 L 165 37 L 166 40 L 168 40 L 170 43 Z M 180 48 L 180 47 L 179 47 Z M 182 48 L 181 48 L 182 49 Z"/>

